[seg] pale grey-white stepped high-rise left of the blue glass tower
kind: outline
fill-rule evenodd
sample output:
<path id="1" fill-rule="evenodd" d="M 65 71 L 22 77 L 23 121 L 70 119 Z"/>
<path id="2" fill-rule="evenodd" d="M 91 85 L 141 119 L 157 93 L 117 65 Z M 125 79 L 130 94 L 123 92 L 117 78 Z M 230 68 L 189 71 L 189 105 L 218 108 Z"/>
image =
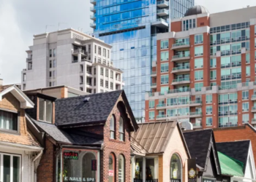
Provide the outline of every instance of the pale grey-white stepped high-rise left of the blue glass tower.
<path id="1" fill-rule="evenodd" d="M 21 74 L 22 90 L 67 85 L 89 93 L 122 89 L 111 46 L 72 28 L 34 36 Z"/>

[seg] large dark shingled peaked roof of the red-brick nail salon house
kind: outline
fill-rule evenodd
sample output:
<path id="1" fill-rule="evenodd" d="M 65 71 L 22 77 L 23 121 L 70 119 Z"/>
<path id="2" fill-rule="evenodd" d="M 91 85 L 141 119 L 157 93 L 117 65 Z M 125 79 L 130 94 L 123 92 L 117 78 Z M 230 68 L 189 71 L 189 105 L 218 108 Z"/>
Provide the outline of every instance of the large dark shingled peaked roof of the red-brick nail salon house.
<path id="1" fill-rule="evenodd" d="M 138 125 L 124 90 L 57 99 L 55 102 L 56 125 L 61 127 L 91 122 L 105 122 L 120 95 L 129 112 L 132 120 L 131 124 L 137 130 Z M 85 98 L 89 98 L 89 100 L 84 102 Z"/>

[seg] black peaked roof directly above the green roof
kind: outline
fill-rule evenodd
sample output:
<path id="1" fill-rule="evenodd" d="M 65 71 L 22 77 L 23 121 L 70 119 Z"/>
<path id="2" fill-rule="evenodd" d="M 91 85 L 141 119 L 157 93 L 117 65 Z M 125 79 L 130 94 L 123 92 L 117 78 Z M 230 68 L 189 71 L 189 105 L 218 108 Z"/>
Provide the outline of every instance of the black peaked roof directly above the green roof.
<path id="1" fill-rule="evenodd" d="M 217 151 L 220 151 L 222 154 L 225 154 L 233 159 L 236 159 L 240 162 L 243 162 L 245 172 L 247 157 L 249 153 L 249 144 L 250 141 L 230 141 L 216 143 Z"/>

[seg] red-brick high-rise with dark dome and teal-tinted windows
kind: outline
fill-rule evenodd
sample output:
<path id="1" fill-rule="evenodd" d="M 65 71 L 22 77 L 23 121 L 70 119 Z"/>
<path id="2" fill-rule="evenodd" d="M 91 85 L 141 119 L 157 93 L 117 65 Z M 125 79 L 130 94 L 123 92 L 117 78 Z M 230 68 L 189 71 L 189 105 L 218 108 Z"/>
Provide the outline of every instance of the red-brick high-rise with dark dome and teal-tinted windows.
<path id="1" fill-rule="evenodd" d="M 209 14 L 201 6 L 157 34 L 146 122 L 194 128 L 256 124 L 256 7 Z"/>

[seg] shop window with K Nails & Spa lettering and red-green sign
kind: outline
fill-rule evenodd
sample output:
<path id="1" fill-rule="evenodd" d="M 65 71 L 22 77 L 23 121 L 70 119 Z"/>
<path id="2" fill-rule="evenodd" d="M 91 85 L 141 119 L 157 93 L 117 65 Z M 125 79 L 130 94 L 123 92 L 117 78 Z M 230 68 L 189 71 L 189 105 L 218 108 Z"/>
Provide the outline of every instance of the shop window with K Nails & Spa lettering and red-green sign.
<path id="1" fill-rule="evenodd" d="M 62 149 L 56 157 L 56 181 L 99 181 L 99 151 Z"/>

